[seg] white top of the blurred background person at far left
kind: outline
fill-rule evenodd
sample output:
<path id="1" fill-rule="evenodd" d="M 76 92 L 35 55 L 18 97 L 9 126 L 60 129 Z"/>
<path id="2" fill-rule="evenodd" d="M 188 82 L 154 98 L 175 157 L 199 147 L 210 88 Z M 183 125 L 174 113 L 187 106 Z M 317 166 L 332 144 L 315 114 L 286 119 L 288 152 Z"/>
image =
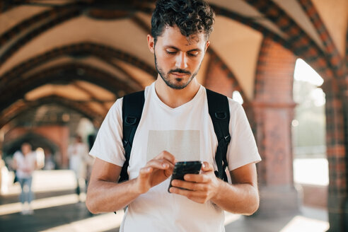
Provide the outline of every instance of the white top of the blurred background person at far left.
<path id="1" fill-rule="evenodd" d="M 16 151 L 13 154 L 13 159 L 17 163 L 17 177 L 31 178 L 36 168 L 36 153 L 32 151 L 24 156 L 21 151 Z"/>

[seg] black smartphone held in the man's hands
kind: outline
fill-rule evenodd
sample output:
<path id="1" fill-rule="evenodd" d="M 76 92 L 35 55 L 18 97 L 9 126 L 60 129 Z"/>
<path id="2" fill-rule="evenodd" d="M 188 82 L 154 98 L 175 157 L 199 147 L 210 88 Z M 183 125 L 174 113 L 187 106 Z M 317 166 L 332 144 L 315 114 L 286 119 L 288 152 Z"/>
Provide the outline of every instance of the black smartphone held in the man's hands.
<path id="1" fill-rule="evenodd" d="M 184 180 L 184 175 L 186 174 L 199 174 L 201 168 L 202 161 L 182 161 L 175 163 L 173 175 L 170 178 L 168 192 L 170 187 L 172 187 L 172 180 Z"/>

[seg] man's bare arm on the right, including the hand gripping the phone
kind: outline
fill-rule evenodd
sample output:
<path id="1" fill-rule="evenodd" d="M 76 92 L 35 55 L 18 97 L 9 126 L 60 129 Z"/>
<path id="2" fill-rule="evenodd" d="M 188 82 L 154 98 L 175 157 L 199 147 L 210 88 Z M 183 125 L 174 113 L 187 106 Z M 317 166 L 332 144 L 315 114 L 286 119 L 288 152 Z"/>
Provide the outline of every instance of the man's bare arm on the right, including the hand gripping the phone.
<path id="1" fill-rule="evenodd" d="M 253 214 L 259 207 L 257 190 L 257 173 L 255 163 L 231 171 L 233 184 L 230 185 L 214 175 L 209 163 L 204 162 L 203 173 L 200 175 L 185 175 L 186 181 L 175 180 L 175 188 L 170 192 L 184 195 L 195 202 L 214 202 L 226 211 L 235 214 Z M 181 190 L 177 187 L 184 187 Z"/>

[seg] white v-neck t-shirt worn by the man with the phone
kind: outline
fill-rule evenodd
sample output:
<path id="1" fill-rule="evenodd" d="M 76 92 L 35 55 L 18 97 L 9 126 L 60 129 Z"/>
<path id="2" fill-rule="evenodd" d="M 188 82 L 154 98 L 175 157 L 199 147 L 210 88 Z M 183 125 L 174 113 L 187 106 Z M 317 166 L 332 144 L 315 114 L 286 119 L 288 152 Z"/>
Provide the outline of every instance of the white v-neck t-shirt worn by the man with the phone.
<path id="1" fill-rule="evenodd" d="M 242 106 L 228 99 L 231 120 L 228 170 L 260 161 L 255 139 Z M 207 93 L 201 86 L 190 102 L 170 108 L 156 94 L 154 83 L 145 89 L 144 110 L 134 136 L 129 179 L 163 150 L 178 161 L 207 161 L 214 165 L 216 134 L 208 112 Z M 123 166 L 122 98 L 105 117 L 91 155 Z M 129 204 L 120 231 L 224 231 L 224 211 L 211 202 L 199 204 L 168 193 L 168 180 L 152 187 Z"/>

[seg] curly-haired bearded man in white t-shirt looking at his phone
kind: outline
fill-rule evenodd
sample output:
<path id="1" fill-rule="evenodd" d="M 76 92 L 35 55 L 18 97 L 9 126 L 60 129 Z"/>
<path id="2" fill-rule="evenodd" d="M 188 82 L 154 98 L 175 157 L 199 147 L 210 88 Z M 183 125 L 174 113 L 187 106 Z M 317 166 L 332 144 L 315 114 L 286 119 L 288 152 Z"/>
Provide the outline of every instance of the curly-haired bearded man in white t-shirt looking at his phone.
<path id="1" fill-rule="evenodd" d="M 120 231 L 224 231 L 224 210 L 250 215 L 258 208 L 260 156 L 243 108 L 231 99 L 227 160 L 233 184 L 214 175 L 217 139 L 205 88 L 195 79 L 213 23 L 202 0 L 156 3 L 147 40 L 158 78 L 145 89 L 129 181 L 117 183 L 125 160 L 122 98 L 100 127 L 90 152 L 97 158 L 86 205 L 93 213 L 128 206 Z M 201 173 L 173 181 L 168 193 L 175 162 L 195 160 L 204 161 Z"/>

